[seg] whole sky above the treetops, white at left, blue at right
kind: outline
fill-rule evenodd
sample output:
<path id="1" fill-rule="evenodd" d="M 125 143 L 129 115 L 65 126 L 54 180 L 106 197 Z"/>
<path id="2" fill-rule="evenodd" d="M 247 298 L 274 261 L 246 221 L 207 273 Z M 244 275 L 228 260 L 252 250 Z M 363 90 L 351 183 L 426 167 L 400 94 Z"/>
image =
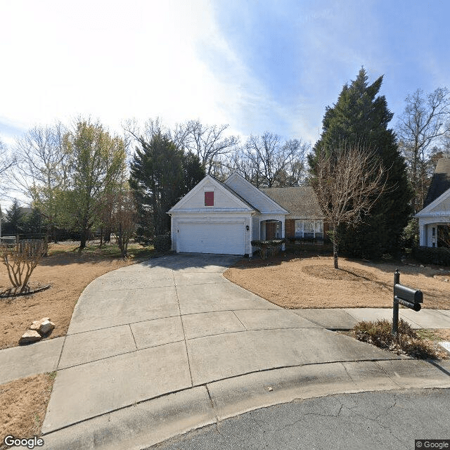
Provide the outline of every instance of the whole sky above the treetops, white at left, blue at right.
<path id="1" fill-rule="evenodd" d="M 78 115 L 199 118 L 314 143 L 364 65 L 396 116 L 450 86 L 450 2 L 0 0 L 0 139 Z"/>

